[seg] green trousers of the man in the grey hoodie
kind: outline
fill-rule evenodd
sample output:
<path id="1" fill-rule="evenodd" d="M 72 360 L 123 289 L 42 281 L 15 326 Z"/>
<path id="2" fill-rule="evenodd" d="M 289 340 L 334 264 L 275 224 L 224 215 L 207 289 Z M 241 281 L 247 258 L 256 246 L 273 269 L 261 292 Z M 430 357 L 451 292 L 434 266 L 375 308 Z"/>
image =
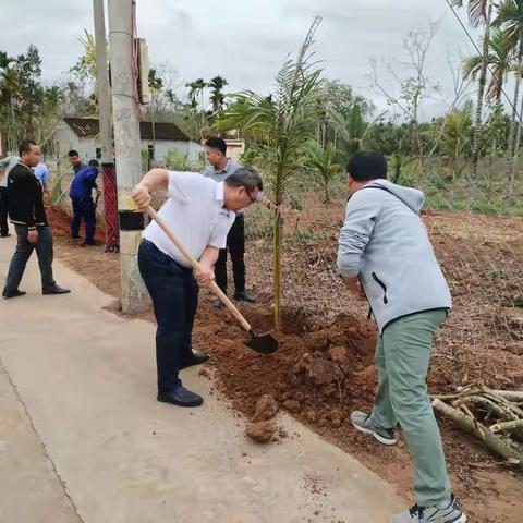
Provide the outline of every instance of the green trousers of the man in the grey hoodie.
<path id="1" fill-rule="evenodd" d="M 421 507 L 451 495 L 441 435 L 425 382 L 434 333 L 446 316 L 445 311 L 429 311 L 400 318 L 384 329 L 376 348 L 378 392 L 372 421 L 384 428 L 401 425 Z"/>

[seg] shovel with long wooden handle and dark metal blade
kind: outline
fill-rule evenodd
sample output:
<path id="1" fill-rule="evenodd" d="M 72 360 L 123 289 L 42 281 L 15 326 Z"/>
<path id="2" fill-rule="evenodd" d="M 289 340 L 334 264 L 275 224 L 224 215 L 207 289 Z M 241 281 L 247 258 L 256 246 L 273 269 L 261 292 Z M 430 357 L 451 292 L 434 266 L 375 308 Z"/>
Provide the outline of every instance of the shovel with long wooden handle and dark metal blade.
<path id="1" fill-rule="evenodd" d="M 200 270 L 199 263 L 196 258 L 180 243 L 178 238 L 172 233 L 167 223 L 157 215 L 155 209 L 149 205 L 147 207 L 147 214 L 158 223 L 158 227 L 166 233 L 166 235 L 171 240 L 171 242 L 177 246 L 177 248 L 182 253 L 185 259 L 191 264 L 194 270 Z M 223 305 L 232 313 L 232 315 L 238 319 L 242 328 L 247 332 L 248 338 L 244 340 L 244 343 L 255 352 L 260 354 L 271 354 L 276 352 L 278 348 L 278 341 L 266 332 L 264 335 L 258 335 L 254 332 L 253 328 L 248 321 L 242 316 L 240 311 L 233 305 L 233 303 L 223 294 L 223 291 L 217 285 L 214 281 L 210 285 L 210 290 L 221 300 Z"/>

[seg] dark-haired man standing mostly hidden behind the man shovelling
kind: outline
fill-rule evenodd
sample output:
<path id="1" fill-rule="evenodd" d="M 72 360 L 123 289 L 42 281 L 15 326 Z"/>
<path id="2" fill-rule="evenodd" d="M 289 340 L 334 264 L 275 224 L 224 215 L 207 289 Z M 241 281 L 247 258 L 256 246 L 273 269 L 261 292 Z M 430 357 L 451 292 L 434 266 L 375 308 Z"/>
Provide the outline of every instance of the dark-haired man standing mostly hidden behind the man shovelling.
<path id="1" fill-rule="evenodd" d="M 231 161 L 227 157 L 227 144 L 222 138 L 217 136 L 210 137 L 205 143 L 207 160 L 210 163 L 204 175 L 222 182 L 233 172 L 240 169 L 240 165 Z M 234 281 L 234 300 L 254 303 L 256 299 L 245 290 L 245 222 L 243 210 L 236 211 L 236 218 L 227 236 L 226 248 L 220 250 L 218 262 L 215 266 L 216 283 L 227 294 L 227 252 L 231 255 L 232 277 Z M 222 308 L 223 304 L 220 300 L 216 300 L 212 304 L 215 308 Z"/>

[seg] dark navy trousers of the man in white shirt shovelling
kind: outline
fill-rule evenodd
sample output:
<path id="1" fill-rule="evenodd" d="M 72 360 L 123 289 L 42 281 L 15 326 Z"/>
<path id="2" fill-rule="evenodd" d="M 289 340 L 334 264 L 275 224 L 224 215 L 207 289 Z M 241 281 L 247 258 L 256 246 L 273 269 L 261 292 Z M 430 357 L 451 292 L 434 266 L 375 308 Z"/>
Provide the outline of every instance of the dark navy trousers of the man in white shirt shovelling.
<path id="1" fill-rule="evenodd" d="M 144 240 L 138 248 L 138 268 L 155 308 L 158 392 L 180 386 L 180 367 L 191 357 L 198 283 L 193 270 L 177 264 L 156 245 Z"/>

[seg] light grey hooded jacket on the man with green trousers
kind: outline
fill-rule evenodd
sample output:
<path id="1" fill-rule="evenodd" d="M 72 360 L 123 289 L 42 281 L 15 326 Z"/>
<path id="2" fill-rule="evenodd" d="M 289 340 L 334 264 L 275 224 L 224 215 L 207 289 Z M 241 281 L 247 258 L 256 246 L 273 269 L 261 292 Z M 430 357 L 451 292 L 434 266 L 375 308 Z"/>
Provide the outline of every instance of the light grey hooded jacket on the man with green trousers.
<path id="1" fill-rule="evenodd" d="M 380 332 L 402 316 L 452 306 L 419 218 L 424 200 L 421 191 L 375 180 L 346 204 L 338 269 L 360 277 Z"/>

